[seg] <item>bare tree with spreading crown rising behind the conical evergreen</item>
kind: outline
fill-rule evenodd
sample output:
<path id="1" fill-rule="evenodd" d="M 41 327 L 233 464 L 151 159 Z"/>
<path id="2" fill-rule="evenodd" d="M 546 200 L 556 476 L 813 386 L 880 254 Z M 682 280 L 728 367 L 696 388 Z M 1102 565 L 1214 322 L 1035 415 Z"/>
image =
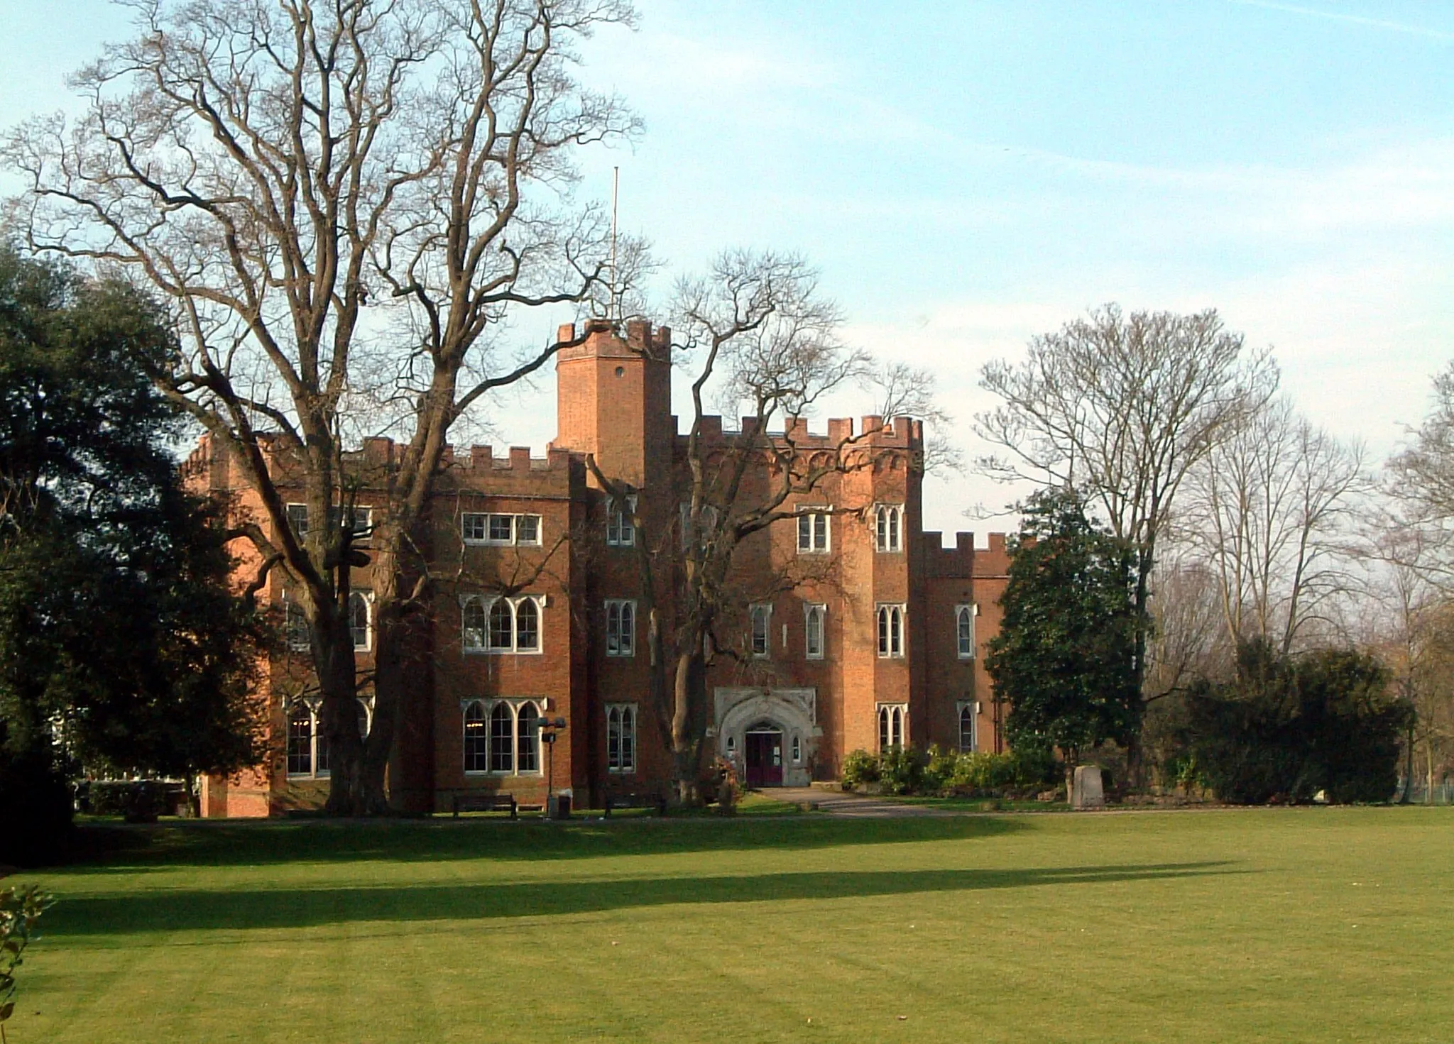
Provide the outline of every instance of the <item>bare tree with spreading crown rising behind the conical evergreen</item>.
<path id="1" fill-rule="evenodd" d="M 990 362 L 980 385 L 1000 404 L 976 432 L 1006 455 L 979 461 L 1003 481 L 1085 490 L 1137 554 L 1136 606 L 1150 619 L 1152 570 L 1188 473 L 1277 387 L 1265 352 L 1245 350 L 1214 310 L 1124 314 L 1108 304 Z M 1146 678 L 1147 628 L 1136 643 Z"/>

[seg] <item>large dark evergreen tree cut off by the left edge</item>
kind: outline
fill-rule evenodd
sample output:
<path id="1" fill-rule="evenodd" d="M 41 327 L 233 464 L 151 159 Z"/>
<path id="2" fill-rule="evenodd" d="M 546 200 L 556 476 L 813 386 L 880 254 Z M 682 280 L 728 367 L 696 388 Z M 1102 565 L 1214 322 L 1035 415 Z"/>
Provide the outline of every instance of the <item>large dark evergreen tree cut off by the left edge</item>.
<path id="1" fill-rule="evenodd" d="M 182 487 L 182 420 L 142 377 L 169 349 L 134 291 L 0 249 L 0 779 L 20 791 L 0 816 L 32 816 L 29 791 L 54 813 L 63 747 L 177 776 L 256 756 L 266 633 L 228 586 L 217 512 Z"/>

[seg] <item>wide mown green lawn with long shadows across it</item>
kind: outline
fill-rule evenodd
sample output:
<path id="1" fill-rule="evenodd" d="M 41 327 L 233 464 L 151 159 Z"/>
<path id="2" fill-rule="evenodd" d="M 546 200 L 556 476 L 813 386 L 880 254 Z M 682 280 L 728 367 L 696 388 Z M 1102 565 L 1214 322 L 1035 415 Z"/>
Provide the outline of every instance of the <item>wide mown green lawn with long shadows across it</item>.
<path id="1" fill-rule="evenodd" d="M 1454 1037 L 1454 810 L 113 836 L 12 1044 Z"/>

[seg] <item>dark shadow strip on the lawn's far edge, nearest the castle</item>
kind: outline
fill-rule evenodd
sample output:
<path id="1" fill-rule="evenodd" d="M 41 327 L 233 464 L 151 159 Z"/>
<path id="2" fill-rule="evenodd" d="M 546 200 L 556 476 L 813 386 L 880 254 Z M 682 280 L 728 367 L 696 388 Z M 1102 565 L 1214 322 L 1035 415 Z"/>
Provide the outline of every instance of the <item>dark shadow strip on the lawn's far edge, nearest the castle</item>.
<path id="1" fill-rule="evenodd" d="M 151 827 L 84 826 L 74 862 L 90 868 L 586 859 L 667 852 L 813 849 L 995 838 L 1028 829 L 1018 819 L 619 819 L 609 823 L 464 820 L 180 822 Z"/>

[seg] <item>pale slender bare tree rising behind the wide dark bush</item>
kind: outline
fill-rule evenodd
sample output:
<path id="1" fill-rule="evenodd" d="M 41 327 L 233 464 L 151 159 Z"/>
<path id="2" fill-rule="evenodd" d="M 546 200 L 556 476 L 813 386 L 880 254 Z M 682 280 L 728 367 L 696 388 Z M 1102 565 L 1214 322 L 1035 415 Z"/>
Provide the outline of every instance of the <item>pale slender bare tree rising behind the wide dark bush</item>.
<path id="1" fill-rule="evenodd" d="M 1373 491 L 1361 443 L 1342 443 L 1280 398 L 1229 429 L 1192 468 L 1179 521 L 1216 574 L 1233 643 L 1287 656 L 1358 583 L 1357 515 Z"/>

